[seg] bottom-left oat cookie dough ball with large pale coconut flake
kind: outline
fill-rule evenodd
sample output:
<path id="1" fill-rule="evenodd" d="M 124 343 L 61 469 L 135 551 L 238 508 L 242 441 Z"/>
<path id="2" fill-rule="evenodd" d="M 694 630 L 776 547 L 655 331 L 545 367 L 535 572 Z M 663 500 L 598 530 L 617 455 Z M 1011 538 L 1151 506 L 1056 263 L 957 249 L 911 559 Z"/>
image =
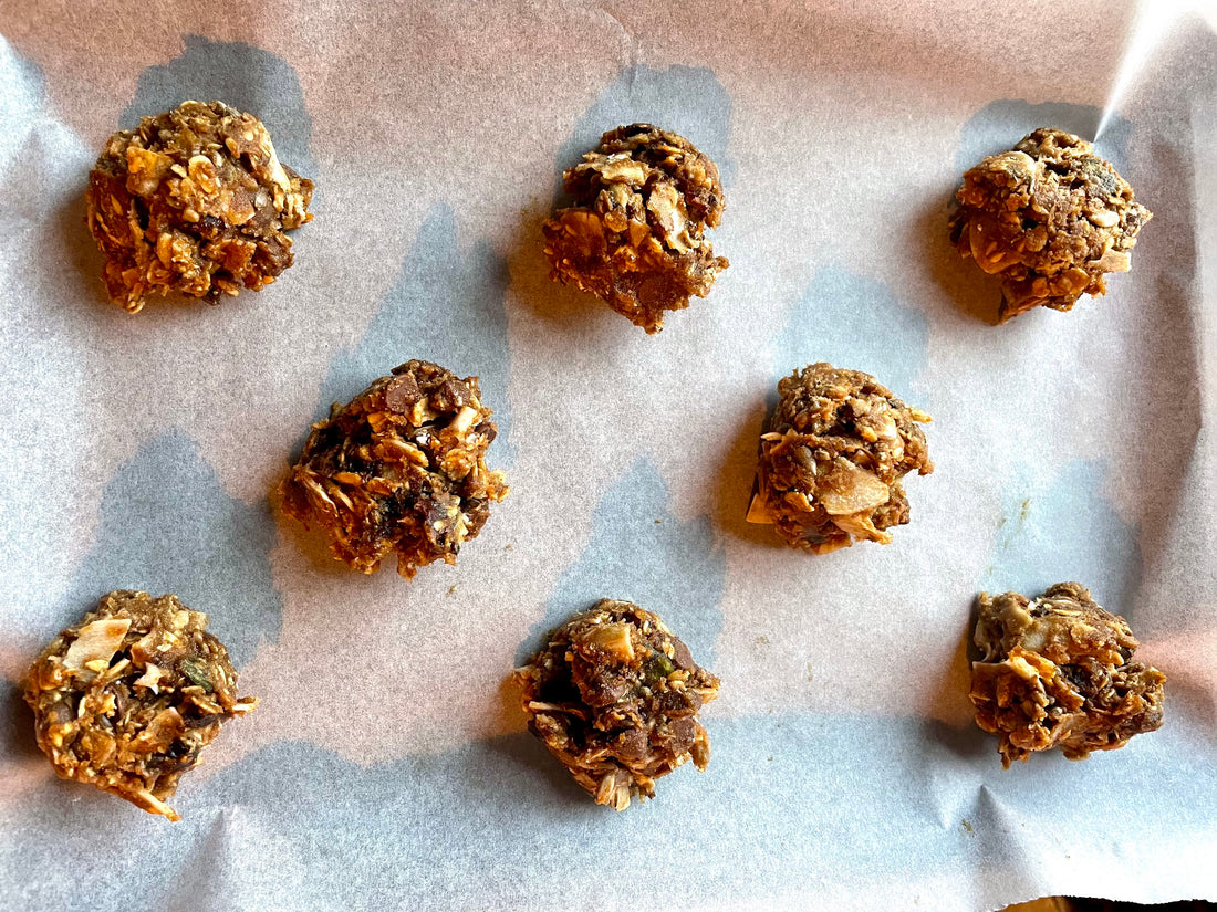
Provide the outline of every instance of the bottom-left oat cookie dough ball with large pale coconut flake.
<path id="1" fill-rule="evenodd" d="M 206 614 L 176 596 L 122 590 L 43 651 L 26 703 L 38 747 L 62 778 L 178 820 L 167 804 L 178 781 L 220 725 L 258 700 L 237 698 L 232 663 L 207 632 Z"/>

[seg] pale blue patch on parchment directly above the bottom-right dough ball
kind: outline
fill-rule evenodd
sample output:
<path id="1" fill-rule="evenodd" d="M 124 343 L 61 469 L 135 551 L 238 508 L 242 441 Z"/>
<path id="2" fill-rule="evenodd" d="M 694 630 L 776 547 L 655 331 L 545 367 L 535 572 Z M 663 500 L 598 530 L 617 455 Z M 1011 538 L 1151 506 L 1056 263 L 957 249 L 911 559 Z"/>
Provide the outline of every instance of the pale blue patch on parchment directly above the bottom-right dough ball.
<path id="1" fill-rule="evenodd" d="M 1008 479 L 981 589 L 1036 597 L 1055 582 L 1077 581 L 1104 608 L 1133 621 L 1139 534 L 1103 496 L 1104 480 L 1101 463 L 1082 460 L 1051 478 L 1016 473 Z"/>

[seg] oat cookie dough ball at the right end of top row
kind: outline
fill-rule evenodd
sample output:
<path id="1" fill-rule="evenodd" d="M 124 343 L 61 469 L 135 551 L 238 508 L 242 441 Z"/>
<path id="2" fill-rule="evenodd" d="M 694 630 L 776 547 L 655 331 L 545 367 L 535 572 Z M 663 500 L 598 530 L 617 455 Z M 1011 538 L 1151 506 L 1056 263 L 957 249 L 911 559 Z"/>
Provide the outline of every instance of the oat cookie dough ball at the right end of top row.
<path id="1" fill-rule="evenodd" d="M 1036 130 L 989 156 L 964 174 L 955 197 L 950 240 L 1002 280 L 1002 322 L 1104 294 L 1104 274 L 1128 271 L 1150 219 L 1116 169 L 1061 130 Z"/>

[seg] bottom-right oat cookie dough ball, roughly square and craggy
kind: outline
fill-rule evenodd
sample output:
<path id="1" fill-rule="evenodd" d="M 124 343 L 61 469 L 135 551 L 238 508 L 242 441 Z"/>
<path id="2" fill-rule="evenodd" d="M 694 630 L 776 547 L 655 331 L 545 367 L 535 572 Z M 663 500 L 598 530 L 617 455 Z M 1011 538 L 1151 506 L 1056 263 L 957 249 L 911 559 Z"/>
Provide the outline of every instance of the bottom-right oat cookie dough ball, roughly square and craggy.
<path id="1" fill-rule="evenodd" d="M 982 593 L 969 697 L 976 724 L 1000 737 L 1002 765 L 1059 747 L 1070 760 L 1115 750 L 1162 725 L 1166 675 L 1133 662 L 1127 621 L 1077 582 L 1039 598 Z"/>

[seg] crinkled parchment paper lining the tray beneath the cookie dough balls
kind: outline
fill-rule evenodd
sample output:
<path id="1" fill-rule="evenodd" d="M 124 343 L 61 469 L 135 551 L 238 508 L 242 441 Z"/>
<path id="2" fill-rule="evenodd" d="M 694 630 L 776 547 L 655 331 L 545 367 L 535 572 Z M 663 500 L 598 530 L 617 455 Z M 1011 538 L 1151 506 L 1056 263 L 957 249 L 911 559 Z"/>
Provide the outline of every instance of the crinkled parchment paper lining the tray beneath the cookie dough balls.
<path id="1" fill-rule="evenodd" d="M 1211 10 L 11 0 L 0 35 L 0 907 L 1217 899 Z M 114 129 L 186 98 L 263 118 L 316 218 L 260 294 L 130 316 L 82 192 Z M 561 170 L 633 120 L 728 193 L 731 266 L 657 338 L 540 253 Z M 947 206 L 1042 125 L 1097 136 L 1154 219 L 1105 298 L 997 327 Z M 414 582 L 268 499 L 310 421 L 410 358 L 482 378 L 512 486 Z M 775 383 L 817 360 L 935 417 L 888 547 L 744 523 Z M 1067 579 L 1170 676 L 1166 724 L 1003 771 L 965 696 L 976 593 Z M 207 612 L 263 700 L 178 824 L 56 779 L 19 698 L 127 587 Z M 708 771 L 619 815 L 504 683 L 601 597 L 723 680 Z"/>

